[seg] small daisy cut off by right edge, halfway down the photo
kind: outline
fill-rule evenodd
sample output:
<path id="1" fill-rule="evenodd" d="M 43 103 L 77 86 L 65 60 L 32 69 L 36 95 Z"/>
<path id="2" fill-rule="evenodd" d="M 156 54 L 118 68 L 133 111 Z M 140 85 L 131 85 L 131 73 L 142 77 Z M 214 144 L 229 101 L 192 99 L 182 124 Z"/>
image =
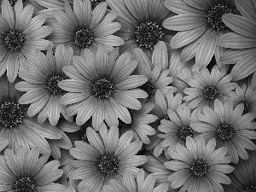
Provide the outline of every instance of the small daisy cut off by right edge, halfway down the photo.
<path id="1" fill-rule="evenodd" d="M 242 103 L 244 105 L 243 113 L 256 114 L 256 90 L 253 90 L 251 85 L 243 84 L 241 87 L 236 87 L 236 91 L 230 92 L 234 107 Z"/>

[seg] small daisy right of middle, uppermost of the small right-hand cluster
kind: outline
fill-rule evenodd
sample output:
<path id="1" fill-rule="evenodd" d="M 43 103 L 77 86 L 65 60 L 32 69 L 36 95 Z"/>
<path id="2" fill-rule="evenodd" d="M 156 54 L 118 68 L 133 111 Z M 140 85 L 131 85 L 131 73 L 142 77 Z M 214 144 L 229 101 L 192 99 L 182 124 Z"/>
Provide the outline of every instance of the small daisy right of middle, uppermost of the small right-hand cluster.
<path id="1" fill-rule="evenodd" d="M 187 82 L 190 87 L 184 89 L 187 96 L 183 100 L 188 103 L 189 108 L 212 108 L 216 99 L 224 102 L 230 97 L 230 90 L 234 90 L 236 83 L 230 83 L 232 76 L 226 74 L 226 70 L 220 70 L 217 66 L 212 68 L 211 73 L 207 67 L 200 72 L 193 73 L 193 79 Z"/>

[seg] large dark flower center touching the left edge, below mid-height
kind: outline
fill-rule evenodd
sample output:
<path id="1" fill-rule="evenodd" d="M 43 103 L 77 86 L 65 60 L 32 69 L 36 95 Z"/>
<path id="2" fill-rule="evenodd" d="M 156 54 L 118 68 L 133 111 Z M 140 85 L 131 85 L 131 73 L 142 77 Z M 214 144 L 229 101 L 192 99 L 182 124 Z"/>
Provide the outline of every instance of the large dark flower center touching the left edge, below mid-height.
<path id="1" fill-rule="evenodd" d="M 0 108 L 0 122 L 3 126 L 12 128 L 21 123 L 23 109 L 19 103 L 4 102 Z"/>

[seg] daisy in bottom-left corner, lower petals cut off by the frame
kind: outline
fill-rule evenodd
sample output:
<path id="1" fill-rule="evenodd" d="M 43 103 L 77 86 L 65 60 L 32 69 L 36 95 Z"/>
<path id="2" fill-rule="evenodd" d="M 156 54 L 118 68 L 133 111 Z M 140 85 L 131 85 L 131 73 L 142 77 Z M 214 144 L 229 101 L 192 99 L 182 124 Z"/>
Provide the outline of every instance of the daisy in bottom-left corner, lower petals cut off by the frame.
<path id="1" fill-rule="evenodd" d="M 2 191 L 66 191 L 64 185 L 53 183 L 61 177 L 63 171 L 58 169 L 58 160 L 47 160 L 50 154 L 39 157 L 38 148 L 26 153 L 19 147 L 14 153 L 9 148 L 0 157 L 0 188 Z M 45 164 L 46 163 L 46 164 Z"/>

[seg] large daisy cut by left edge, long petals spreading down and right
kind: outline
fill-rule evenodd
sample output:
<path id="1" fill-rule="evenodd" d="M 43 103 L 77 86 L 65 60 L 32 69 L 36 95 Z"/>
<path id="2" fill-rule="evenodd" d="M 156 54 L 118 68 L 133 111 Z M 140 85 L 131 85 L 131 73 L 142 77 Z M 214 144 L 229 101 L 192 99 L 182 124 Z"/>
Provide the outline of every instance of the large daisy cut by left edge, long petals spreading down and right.
<path id="1" fill-rule="evenodd" d="M 0 78 L 0 137 L 9 140 L 7 148 L 12 150 L 23 145 L 26 151 L 38 147 L 40 153 L 49 153 L 46 138 L 61 139 L 63 132 L 48 122 L 39 124 L 27 115 L 26 105 L 18 102 L 22 94 L 15 90 L 15 83 L 10 83 L 5 74 Z"/>

